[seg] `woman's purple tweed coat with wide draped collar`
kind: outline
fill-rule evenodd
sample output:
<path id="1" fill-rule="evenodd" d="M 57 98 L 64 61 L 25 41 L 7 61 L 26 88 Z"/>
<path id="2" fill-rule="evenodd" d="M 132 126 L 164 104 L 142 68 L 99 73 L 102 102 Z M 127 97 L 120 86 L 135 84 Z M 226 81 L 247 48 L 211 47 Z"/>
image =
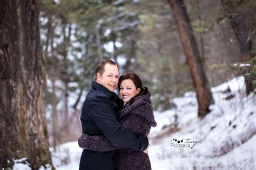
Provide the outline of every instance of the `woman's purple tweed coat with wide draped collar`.
<path id="1" fill-rule="evenodd" d="M 151 104 L 151 93 L 137 97 L 134 102 L 126 104 L 124 109 L 118 113 L 120 124 L 129 129 L 133 134 L 150 133 L 151 126 L 157 126 L 154 120 L 153 107 Z M 104 136 L 82 136 L 78 139 L 80 147 L 87 150 L 105 152 L 118 149 L 117 169 L 151 169 L 149 155 L 144 152 L 120 147 Z"/>

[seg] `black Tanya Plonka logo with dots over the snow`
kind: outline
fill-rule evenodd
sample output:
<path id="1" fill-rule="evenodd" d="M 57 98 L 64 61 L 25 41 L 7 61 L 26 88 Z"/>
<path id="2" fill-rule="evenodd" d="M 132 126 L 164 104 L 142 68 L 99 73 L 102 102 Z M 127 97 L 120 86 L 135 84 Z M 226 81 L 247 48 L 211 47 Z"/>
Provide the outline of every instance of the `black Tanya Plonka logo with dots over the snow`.
<path id="1" fill-rule="evenodd" d="M 191 140 L 190 138 L 183 138 L 181 140 L 172 139 L 171 147 L 190 147 L 193 148 L 196 144 L 200 144 L 201 140 Z"/>

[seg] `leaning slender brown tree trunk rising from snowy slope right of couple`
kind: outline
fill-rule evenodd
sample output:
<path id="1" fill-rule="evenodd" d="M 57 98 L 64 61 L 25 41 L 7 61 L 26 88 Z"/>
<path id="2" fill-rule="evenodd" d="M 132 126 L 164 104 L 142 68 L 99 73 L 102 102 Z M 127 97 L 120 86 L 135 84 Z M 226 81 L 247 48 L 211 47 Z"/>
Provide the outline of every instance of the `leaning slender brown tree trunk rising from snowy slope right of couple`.
<path id="1" fill-rule="evenodd" d="M 209 106 L 213 103 L 213 98 L 211 91 L 207 87 L 208 81 L 201 64 L 193 30 L 191 29 L 183 1 L 169 0 L 168 2 L 172 9 L 173 18 L 178 28 L 181 44 L 183 45 L 187 63 L 190 67 L 193 84 L 196 88 L 198 116 L 203 118 L 208 114 L 208 112 L 210 112 Z"/>

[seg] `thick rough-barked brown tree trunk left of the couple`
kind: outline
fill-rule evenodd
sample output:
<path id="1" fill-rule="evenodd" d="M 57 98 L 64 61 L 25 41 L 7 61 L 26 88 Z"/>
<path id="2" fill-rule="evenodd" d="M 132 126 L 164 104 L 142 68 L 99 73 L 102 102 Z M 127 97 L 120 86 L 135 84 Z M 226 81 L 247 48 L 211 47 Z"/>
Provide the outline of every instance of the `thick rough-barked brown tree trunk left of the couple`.
<path id="1" fill-rule="evenodd" d="M 39 1 L 0 1 L 0 168 L 52 166 L 43 112 Z M 23 162 L 25 162 L 23 161 Z"/>

